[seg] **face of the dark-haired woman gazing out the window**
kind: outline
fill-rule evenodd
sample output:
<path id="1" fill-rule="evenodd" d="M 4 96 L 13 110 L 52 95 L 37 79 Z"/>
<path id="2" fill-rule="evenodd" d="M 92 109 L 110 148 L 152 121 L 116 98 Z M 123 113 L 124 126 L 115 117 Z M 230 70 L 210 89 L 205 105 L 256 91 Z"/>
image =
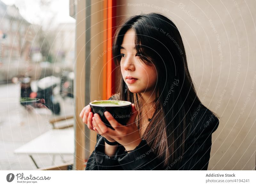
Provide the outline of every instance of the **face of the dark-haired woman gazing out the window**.
<path id="1" fill-rule="evenodd" d="M 154 65 L 147 66 L 141 60 L 135 49 L 135 32 L 128 30 L 121 45 L 121 72 L 124 82 L 132 93 L 152 93 L 157 82 L 157 72 Z M 129 80 L 127 76 L 137 80 Z M 128 78 L 128 79 L 127 79 Z"/>

